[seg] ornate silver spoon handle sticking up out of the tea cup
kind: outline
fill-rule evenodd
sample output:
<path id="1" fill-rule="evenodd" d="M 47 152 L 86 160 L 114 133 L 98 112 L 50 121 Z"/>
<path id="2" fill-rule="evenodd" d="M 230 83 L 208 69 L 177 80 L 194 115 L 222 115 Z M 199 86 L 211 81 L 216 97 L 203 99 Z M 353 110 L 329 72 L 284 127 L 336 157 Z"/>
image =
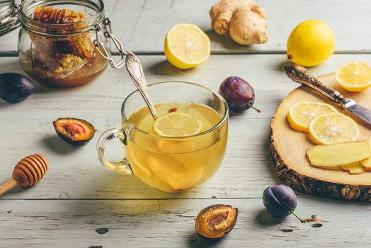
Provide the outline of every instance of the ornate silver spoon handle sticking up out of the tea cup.
<path id="1" fill-rule="evenodd" d="M 135 86 L 139 90 L 140 94 L 143 96 L 144 101 L 146 102 L 149 111 L 151 111 L 152 117 L 154 120 L 159 118 L 156 113 L 156 109 L 154 108 L 154 103 L 152 102 L 151 96 L 149 96 L 147 82 L 144 77 L 142 65 L 140 64 L 137 56 L 135 56 L 132 52 L 127 52 L 125 65 L 127 72 L 129 72 L 132 81 L 134 82 Z"/>

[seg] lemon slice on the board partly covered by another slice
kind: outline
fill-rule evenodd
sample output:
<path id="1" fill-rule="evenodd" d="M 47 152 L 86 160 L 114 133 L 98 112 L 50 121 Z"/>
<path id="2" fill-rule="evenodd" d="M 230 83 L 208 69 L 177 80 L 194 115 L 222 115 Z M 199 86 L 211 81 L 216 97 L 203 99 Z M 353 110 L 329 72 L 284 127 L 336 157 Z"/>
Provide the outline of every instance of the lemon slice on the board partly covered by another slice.
<path id="1" fill-rule="evenodd" d="M 337 112 L 336 108 L 327 103 L 315 101 L 303 101 L 294 104 L 287 114 L 287 121 L 292 129 L 299 132 L 309 132 L 308 125 L 316 115 L 323 113 Z"/>

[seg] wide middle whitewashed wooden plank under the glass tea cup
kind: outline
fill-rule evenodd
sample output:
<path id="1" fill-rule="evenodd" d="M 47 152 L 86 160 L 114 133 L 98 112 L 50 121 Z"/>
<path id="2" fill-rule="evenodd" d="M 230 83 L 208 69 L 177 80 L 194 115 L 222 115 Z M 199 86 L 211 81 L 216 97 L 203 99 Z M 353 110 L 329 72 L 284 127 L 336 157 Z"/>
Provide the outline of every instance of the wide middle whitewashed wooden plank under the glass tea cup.
<path id="1" fill-rule="evenodd" d="M 266 186 L 278 183 L 268 150 L 269 125 L 278 103 L 297 86 L 280 67 L 283 55 L 215 55 L 191 70 L 171 67 L 164 56 L 139 56 L 149 82 L 195 81 L 217 91 L 228 76 L 239 75 L 256 89 L 262 113 L 232 114 L 227 154 L 217 174 L 187 193 L 167 194 L 142 184 L 135 176 L 106 171 L 96 156 L 96 140 L 105 128 L 120 125 L 120 105 L 134 89 L 125 69 L 108 68 L 96 81 L 74 89 L 52 89 L 37 84 L 27 100 L 0 101 L 0 182 L 28 154 L 40 152 L 50 160 L 50 171 L 38 186 L 13 191 L 2 198 L 239 198 L 260 197 Z M 368 60 L 367 55 L 333 55 L 314 74 L 333 72 L 344 62 Z M 21 72 L 16 57 L 0 58 L 0 73 Z M 76 149 L 57 137 L 52 120 L 84 118 L 96 126 L 96 137 Z M 109 147 L 110 157 L 121 159 L 119 142 Z"/>

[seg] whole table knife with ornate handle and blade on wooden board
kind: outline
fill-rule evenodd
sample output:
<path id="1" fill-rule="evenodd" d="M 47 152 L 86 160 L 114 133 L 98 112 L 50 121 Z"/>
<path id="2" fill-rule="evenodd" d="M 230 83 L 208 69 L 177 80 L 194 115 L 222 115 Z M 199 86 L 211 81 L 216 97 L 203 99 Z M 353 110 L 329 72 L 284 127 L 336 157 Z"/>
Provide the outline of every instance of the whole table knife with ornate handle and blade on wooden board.
<path id="1" fill-rule="evenodd" d="M 305 68 L 297 64 L 285 64 L 283 66 L 287 77 L 296 81 L 299 84 L 308 86 L 315 91 L 327 96 L 332 101 L 338 103 L 343 108 L 348 109 L 354 115 L 364 120 L 366 123 L 371 125 L 371 111 L 363 106 L 360 106 L 356 101 L 351 98 L 346 98 L 339 91 L 331 89 L 331 87 L 326 86 L 316 79 L 310 72 Z"/>

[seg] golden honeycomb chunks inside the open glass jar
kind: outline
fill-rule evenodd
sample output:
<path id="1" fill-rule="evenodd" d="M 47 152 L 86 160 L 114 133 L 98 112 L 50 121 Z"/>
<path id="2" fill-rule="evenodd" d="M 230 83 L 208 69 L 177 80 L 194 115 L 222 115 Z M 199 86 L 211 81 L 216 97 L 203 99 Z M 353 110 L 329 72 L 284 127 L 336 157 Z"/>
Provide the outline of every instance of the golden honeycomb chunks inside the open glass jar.
<path id="1" fill-rule="evenodd" d="M 39 6 L 35 9 L 33 20 L 40 21 L 42 23 L 78 23 L 84 21 L 86 16 L 84 13 L 71 11 L 68 9 L 55 9 L 47 6 Z M 79 23 L 71 27 L 60 26 L 53 27 L 60 33 L 67 32 L 79 32 L 86 27 L 86 23 Z M 68 30 L 67 30 L 68 28 Z M 72 54 L 82 58 L 91 58 L 94 56 L 95 47 L 90 40 L 92 32 L 86 32 L 76 35 L 69 35 L 67 38 L 58 39 L 47 39 L 40 36 L 31 35 L 31 39 L 34 41 L 35 49 L 38 46 L 40 50 L 51 50 L 51 53 L 63 53 Z"/>

